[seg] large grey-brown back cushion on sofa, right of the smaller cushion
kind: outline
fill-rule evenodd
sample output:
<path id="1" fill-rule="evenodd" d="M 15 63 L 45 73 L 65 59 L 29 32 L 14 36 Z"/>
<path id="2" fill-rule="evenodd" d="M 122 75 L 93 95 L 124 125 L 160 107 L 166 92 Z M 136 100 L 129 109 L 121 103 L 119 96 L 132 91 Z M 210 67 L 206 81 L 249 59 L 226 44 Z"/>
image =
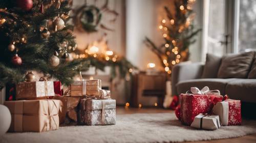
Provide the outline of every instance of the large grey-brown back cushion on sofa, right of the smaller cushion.
<path id="1" fill-rule="evenodd" d="M 255 52 L 223 56 L 218 78 L 247 78 Z"/>

